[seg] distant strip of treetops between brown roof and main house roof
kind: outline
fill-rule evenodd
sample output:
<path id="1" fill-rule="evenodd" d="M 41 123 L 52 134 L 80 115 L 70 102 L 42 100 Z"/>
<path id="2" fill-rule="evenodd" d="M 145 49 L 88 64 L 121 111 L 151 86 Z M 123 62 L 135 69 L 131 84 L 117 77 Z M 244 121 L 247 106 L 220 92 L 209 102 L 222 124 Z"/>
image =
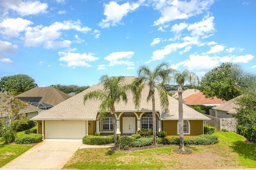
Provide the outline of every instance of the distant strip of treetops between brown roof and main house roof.
<path id="1" fill-rule="evenodd" d="M 66 94 L 69 94 L 71 92 L 75 92 L 75 93 L 80 93 L 84 90 L 86 90 L 87 88 L 89 88 L 90 86 L 77 86 L 77 85 L 60 85 L 60 84 L 56 84 L 56 85 L 51 85 L 50 87 L 54 87 Z"/>

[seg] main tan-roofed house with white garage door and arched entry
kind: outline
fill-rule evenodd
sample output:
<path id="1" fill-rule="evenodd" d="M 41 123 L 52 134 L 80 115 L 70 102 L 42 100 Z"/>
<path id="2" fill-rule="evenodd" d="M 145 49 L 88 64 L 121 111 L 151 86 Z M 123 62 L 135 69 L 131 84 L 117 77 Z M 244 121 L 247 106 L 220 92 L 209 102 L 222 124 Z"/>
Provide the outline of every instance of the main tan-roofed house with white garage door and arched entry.
<path id="1" fill-rule="evenodd" d="M 130 84 L 135 77 L 125 77 Z M 146 86 L 148 87 L 148 86 Z M 100 100 L 88 100 L 84 104 L 84 95 L 88 92 L 102 89 L 102 84 L 96 84 L 72 98 L 58 104 L 55 107 L 33 117 L 31 120 L 38 122 L 38 133 L 42 133 L 45 139 L 82 139 L 85 135 L 113 134 L 111 115 L 104 120 L 99 120 Z M 128 102 L 120 102 L 115 105 L 117 134 L 133 134 L 138 128 L 151 128 L 152 101 L 146 102 L 149 89 L 142 91 L 141 107 L 136 109 L 132 102 L 132 93 L 127 94 Z M 157 131 L 167 131 L 167 135 L 178 135 L 178 100 L 168 96 L 169 109 L 164 112 L 160 106 L 158 91 L 155 91 L 156 126 Z M 196 136 L 204 133 L 204 121 L 208 117 L 183 105 L 184 135 Z"/>

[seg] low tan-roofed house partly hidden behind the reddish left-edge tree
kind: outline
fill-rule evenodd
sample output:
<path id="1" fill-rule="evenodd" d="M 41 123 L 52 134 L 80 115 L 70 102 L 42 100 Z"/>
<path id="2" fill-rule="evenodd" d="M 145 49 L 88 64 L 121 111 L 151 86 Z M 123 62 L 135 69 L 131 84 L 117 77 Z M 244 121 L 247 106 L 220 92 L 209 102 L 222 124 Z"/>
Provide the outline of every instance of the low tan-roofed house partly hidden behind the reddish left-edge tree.
<path id="1" fill-rule="evenodd" d="M 4 102 L 3 99 L 6 99 L 6 102 Z M 6 113 L 4 113 L 2 106 L 4 105 L 6 106 L 7 102 L 9 102 L 8 100 L 10 100 L 10 98 L 5 98 L 4 94 L 0 92 L 0 113 L 3 113 L 2 114 L 3 117 L 6 116 Z M 42 111 L 42 109 L 28 105 L 26 109 L 20 110 L 20 113 L 26 113 L 26 117 L 30 119 L 38 115 L 40 111 Z"/>

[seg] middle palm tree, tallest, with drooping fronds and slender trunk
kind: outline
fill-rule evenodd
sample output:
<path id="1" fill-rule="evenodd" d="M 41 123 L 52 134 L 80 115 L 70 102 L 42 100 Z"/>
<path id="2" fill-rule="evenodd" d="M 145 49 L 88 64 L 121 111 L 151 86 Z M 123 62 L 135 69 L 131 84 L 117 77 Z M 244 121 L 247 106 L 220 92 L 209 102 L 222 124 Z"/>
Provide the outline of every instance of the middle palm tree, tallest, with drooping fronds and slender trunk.
<path id="1" fill-rule="evenodd" d="M 132 82 L 133 102 L 135 108 L 140 107 L 141 93 L 145 86 L 148 86 L 149 93 L 147 102 L 152 99 L 152 116 L 153 116 L 153 145 L 156 145 L 156 108 L 155 108 L 155 90 L 158 90 L 162 109 L 166 111 L 169 106 L 168 94 L 164 84 L 170 81 L 170 73 L 168 63 L 163 62 L 151 70 L 148 66 L 140 66 L 137 71 L 138 77 Z"/>

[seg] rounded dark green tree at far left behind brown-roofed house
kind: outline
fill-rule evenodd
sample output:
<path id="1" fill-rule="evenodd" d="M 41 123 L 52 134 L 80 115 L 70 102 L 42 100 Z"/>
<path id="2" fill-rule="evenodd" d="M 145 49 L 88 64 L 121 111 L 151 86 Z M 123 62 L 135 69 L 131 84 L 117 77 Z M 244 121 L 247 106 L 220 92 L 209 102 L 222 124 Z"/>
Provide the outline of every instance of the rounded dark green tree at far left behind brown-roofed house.
<path id="1" fill-rule="evenodd" d="M 26 74 L 4 76 L 0 80 L 1 92 L 13 92 L 15 95 L 26 92 L 37 87 L 35 80 Z"/>

